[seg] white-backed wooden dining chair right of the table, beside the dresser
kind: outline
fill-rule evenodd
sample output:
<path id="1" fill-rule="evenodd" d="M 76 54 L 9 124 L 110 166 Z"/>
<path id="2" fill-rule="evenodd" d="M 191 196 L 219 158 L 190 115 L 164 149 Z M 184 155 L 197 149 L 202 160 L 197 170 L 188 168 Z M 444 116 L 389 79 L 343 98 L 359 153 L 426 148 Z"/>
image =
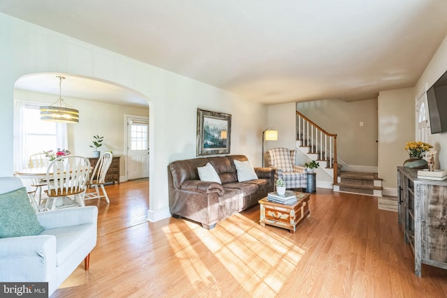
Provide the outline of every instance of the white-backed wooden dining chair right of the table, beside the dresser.
<path id="1" fill-rule="evenodd" d="M 105 152 L 98 159 L 98 162 L 95 165 L 93 172 L 91 172 L 90 180 L 87 182 L 87 192 L 85 193 L 85 200 L 91 199 L 99 199 L 105 198 L 108 204 L 110 204 L 109 197 L 104 188 L 105 183 L 105 175 L 112 163 L 112 154 L 110 152 Z M 92 190 L 90 187 L 94 187 Z M 99 187 L 101 187 L 101 192 L 99 191 Z M 90 191 L 91 190 L 91 191 Z"/>

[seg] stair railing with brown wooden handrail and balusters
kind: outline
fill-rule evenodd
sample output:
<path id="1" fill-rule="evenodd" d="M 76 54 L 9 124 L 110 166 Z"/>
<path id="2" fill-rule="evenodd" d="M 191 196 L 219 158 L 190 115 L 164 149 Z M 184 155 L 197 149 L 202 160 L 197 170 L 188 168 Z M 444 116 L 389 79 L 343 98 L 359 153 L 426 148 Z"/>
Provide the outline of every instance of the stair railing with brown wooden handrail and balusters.
<path id="1" fill-rule="evenodd" d="M 334 170 L 334 184 L 337 184 L 337 134 L 326 132 L 298 111 L 296 114 L 298 139 L 302 140 L 302 145 L 309 146 L 311 153 L 319 153 L 319 160 L 329 161 L 329 167 Z"/>

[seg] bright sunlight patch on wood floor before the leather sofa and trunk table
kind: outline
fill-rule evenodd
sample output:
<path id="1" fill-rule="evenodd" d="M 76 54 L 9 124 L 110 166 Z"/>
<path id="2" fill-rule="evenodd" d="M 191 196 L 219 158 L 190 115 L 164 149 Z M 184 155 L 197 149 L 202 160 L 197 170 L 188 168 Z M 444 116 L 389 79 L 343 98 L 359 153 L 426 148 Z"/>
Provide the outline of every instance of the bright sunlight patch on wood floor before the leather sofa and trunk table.
<path id="1" fill-rule="evenodd" d="M 276 295 L 305 254 L 302 248 L 288 239 L 268 232 L 240 214 L 226 218 L 212 230 L 203 229 L 196 223 L 184 222 L 191 225 L 198 239 L 235 280 L 243 281 L 240 286 L 250 295 Z M 165 228 L 165 232 L 174 235 L 168 237 L 170 244 L 177 252 L 177 258 L 181 260 L 191 285 L 200 282 L 217 283 L 219 276 L 212 276 L 193 248 L 188 248 L 189 240 L 182 231 L 175 229 L 176 225 L 170 225 Z"/>

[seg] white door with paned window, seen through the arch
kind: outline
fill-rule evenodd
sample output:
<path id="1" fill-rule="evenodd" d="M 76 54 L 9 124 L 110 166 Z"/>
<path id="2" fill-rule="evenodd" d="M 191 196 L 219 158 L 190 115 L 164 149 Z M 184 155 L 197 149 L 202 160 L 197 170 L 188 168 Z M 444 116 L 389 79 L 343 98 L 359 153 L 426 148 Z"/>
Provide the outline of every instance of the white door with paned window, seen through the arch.
<path id="1" fill-rule="evenodd" d="M 127 179 L 149 177 L 149 118 L 127 117 Z"/>

